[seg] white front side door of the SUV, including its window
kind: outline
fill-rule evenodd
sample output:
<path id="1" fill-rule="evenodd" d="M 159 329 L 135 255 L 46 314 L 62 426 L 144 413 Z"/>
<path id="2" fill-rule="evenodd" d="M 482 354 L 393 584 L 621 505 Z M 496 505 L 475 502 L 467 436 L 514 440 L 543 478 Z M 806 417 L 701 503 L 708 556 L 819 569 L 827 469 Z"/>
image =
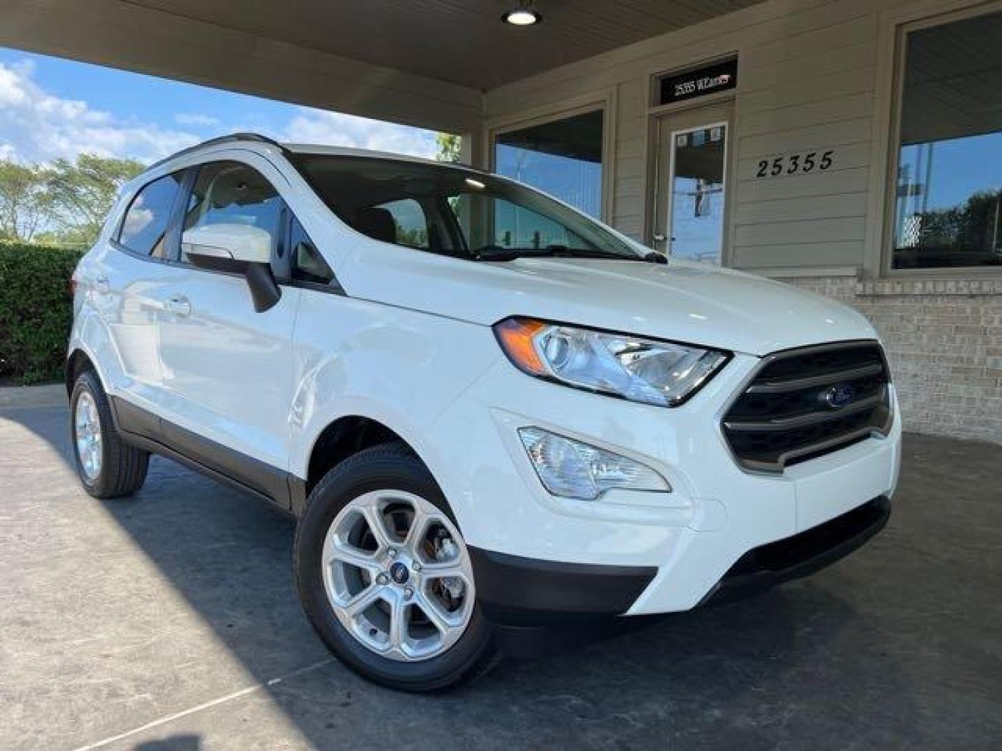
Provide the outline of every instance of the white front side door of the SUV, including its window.
<path id="1" fill-rule="evenodd" d="M 160 322 L 164 437 L 230 477 L 255 481 L 247 473 L 285 471 L 289 463 L 292 334 L 300 290 L 282 287 L 279 302 L 257 312 L 243 276 L 195 268 L 183 238 L 185 230 L 211 224 L 260 227 L 272 236 L 274 264 L 284 252 L 288 221 L 275 183 L 285 178 L 252 154 L 196 169 Z M 267 479 L 246 484 L 263 490 Z"/>

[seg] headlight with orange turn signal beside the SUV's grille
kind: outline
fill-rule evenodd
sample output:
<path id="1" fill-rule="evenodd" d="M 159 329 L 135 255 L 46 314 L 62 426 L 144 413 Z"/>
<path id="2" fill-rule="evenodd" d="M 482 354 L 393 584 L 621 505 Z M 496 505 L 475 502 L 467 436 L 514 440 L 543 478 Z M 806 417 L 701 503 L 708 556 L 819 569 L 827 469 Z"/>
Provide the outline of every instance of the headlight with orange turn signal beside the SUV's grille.
<path id="1" fill-rule="evenodd" d="M 502 348 L 530 376 L 631 402 L 677 407 L 705 384 L 727 353 L 532 318 L 494 326 Z"/>

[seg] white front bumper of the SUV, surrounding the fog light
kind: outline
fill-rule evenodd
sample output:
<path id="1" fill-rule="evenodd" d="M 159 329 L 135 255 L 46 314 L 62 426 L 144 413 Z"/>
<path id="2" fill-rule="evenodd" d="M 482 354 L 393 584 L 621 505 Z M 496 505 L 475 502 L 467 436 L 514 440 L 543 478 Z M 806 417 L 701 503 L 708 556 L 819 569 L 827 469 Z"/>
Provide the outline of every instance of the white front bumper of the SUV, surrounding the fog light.
<path id="1" fill-rule="evenodd" d="M 449 447 L 448 452 L 436 456 L 433 449 L 423 458 L 467 544 L 483 552 L 479 570 L 476 557 L 474 568 L 485 609 L 516 622 L 530 616 L 546 620 L 554 611 L 637 616 L 689 610 L 712 592 L 735 589 L 736 581 L 724 588 L 721 580 L 749 551 L 798 538 L 874 499 L 890 498 L 900 465 L 897 409 L 886 437 L 866 439 L 781 475 L 738 466 L 720 420 L 759 362 L 736 354 L 674 410 L 540 382 L 507 361 L 457 399 L 426 433 L 430 447 Z M 642 462 L 672 491 L 612 491 L 594 502 L 551 496 L 518 440 L 522 427 L 549 430 Z M 501 556 L 510 565 L 493 567 L 483 560 Z M 535 562 L 545 563 L 547 572 L 535 571 Z M 565 566 L 572 570 L 562 570 Z M 600 577 L 590 581 L 600 584 L 575 576 L 590 567 Z M 612 567 L 605 572 L 614 572 L 611 579 L 600 571 L 606 567 Z M 508 581 L 517 585 L 496 586 Z M 621 586 L 608 601 L 596 600 L 598 593 L 616 590 L 608 582 Z M 560 608 L 546 607 L 561 602 Z M 526 607 L 517 613 L 520 604 Z"/>

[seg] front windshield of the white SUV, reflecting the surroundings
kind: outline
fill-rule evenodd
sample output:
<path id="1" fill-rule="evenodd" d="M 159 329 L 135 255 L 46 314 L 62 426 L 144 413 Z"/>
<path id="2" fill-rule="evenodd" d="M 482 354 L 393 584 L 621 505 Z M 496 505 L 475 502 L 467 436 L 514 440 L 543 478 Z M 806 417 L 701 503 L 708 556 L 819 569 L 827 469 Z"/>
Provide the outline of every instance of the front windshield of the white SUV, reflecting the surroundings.
<path id="1" fill-rule="evenodd" d="M 649 260 L 558 201 L 483 172 L 325 154 L 301 154 L 297 166 L 341 219 L 384 242 L 471 260 Z"/>

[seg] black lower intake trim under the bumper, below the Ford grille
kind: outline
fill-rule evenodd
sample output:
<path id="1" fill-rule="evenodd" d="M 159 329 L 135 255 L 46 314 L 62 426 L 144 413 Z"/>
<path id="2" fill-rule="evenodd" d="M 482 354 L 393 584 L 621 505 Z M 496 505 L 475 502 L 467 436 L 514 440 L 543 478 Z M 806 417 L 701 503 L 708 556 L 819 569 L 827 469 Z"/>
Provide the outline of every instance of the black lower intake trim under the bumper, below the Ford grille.
<path id="1" fill-rule="evenodd" d="M 799 535 L 755 548 L 737 559 L 700 605 L 738 600 L 814 574 L 863 546 L 890 518 L 891 501 L 881 496 Z"/>

